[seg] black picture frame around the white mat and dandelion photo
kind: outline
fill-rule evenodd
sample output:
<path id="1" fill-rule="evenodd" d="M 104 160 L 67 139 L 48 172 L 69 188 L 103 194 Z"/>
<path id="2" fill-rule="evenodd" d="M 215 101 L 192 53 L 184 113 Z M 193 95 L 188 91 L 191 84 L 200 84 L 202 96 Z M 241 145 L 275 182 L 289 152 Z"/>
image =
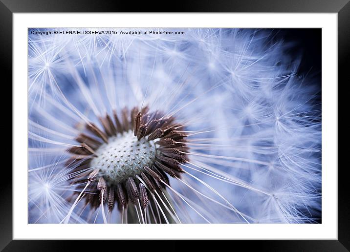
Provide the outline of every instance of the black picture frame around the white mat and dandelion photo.
<path id="1" fill-rule="evenodd" d="M 112 0 L 0 0 L 0 62 L 3 86 L 12 86 L 12 14 L 19 12 L 314 12 L 338 13 L 338 80 L 349 84 L 350 60 L 350 1 L 349 0 L 192 0 L 176 2 L 171 9 L 164 2 L 117 2 Z M 44 23 L 44 21 L 43 21 Z M 347 82 L 346 82 L 347 81 Z M 333 84 L 331 84 L 333 85 Z M 339 86 L 339 84 L 338 84 Z M 11 91 L 12 92 L 12 88 Z M 7 97 L 6 97 L 7 99 Z M 7 107 L 4 107 L 6 110 Z M 7 109 L 9 110 L 9 109 Z M 10 111 L 8 111 L 10 113 Z M 6 115 L 9 122 L 11 115 Z M 5 115 L 3 115 L 5 120 Z M 12 122 L 12 121 L 11 121 Z M 11 123 L 12 125 L 12 123 Z M 4 125 L 3 125 L 4 126 Z M 12 128 L 12 127 L 11 127 Z M 7 132 L 3 129 L 3 132 Z M 9 136 L 9 134 L 4 134 Z M 4 136 L 4 137 L 6 137 Z M 4 140 L 5 141 L 5 140 Z M 10 141 L 10 140 L 9 140 Z M 8 145 L 7 145 L 8 146 Z M 7 147 L 7 149 L 10 149 Z M 12 149 L 12 148 L 11 148 Z M 84 251 L 96 245 L 95 241 L 12 241 L 12 170 L 2 167 L 0 182 L 0 250 L 3 251 L 70 251 L 72 243 L 79 243 Z M 336 167 L 334 167 L 336 168 Z M 249 248 L 258 246 L 262 251 L 350 251 L 350 208 L 347 167 L 338 169 L 338 240 L 293 240 L 293 241 L 226 241 Z M 276 227 L 278 228 L 278 226 Z M 129 246 L 130 241 L 104 241 L 105 249 Z M 159 248 L 180 250 L 186 241 L 167 241 Z M 149 241 L 143 241 L 145 247 Z M 157 246 L 161 246 L 157 242 Z M 206 246 L 206 241 L 201 241 Z M 72 246 L 73 245 L 73 246 Z M 103 247 L 100 247 L 103 249 Z M 234 249 L 235 247 L 231 247 Z"/>

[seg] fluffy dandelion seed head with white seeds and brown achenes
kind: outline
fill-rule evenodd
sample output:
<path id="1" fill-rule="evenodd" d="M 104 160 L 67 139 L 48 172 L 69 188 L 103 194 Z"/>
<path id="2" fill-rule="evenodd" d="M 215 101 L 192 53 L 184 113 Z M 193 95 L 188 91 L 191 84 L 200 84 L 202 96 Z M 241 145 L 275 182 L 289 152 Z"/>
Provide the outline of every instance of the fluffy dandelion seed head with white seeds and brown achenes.
<path id="1" fill-rule="evenodd" d="M 291 45 L 95 30 L 29 33 L 29 223 L 320 222 L 320 90 Z"/>

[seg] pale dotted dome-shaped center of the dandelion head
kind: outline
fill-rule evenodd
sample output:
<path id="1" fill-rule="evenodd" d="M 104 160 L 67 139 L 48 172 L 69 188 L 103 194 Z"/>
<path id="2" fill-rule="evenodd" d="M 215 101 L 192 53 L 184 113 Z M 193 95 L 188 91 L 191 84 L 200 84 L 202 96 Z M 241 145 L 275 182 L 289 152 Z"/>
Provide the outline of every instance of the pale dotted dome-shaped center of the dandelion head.
<path id="1" fill-rule="evenodd" d="M 99 175 L 110 184 L 124 182 L 153 164 L 156 148 L 153 141 L 145 138 L 137 140 L 130 130 L 110 137 L 108 144 L 101 145 L 96 157 L 91 161 L 92 168 L 99 168 Z"/>

